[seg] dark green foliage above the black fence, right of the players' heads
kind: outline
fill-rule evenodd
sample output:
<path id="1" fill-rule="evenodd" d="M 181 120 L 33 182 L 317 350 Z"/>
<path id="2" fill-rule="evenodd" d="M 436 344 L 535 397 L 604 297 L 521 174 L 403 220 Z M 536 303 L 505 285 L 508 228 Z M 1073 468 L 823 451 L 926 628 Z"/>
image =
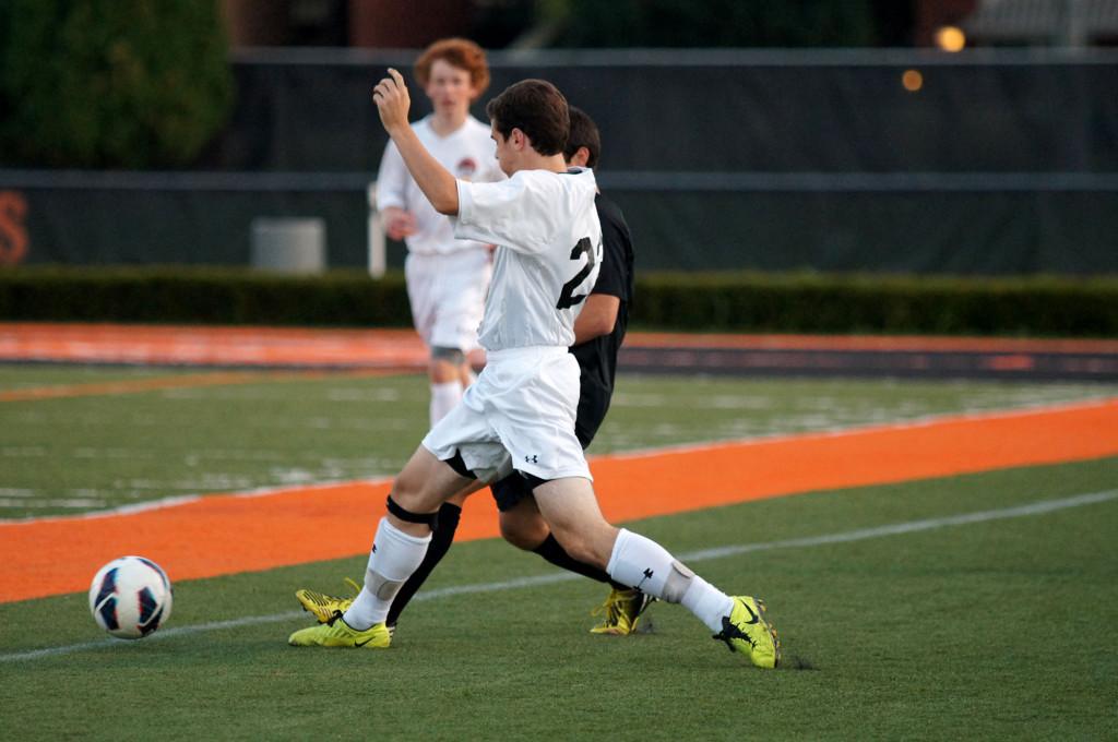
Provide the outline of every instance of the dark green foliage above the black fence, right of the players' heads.
<path id="1" fill-rule="evenodd" d="M 877 42 L 872 0 L 542 0 L 566 47 L 844 47 Z"/>

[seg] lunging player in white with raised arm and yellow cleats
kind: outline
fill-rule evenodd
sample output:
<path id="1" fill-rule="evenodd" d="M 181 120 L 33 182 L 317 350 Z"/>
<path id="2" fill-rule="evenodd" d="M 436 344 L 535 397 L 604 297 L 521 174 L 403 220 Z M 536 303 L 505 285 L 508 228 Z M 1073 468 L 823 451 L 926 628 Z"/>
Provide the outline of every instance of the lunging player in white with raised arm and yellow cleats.
<path id="1" fill-rule="evenodd" d="M 480 333 L 487 362 L 397 477 L 353 603 L 288 643 L 389 646 L 385 618 L 423 561 L 439 505 L 474 478 L 491 482 L 515 468 L 533 484 L 541 515 L 571 556 L 682 603 L 731 650 L 775 667 L 779 643 L 760 600 L 727 596 L 656 542 L 607 523 L 598 508 L 575 436 L 578 363 L 567 349 L 597 278 L 601 229 L 594 172 L 568 172 L 563 163 L 566 99 L 550 83 L 522 80 L 490 102 L 498 161 L 510 177 L 498 183 L 457 181 L 424 149 L 408 126 L 410 101 L 398 72 L 389 69 L 373 101 L 416 183 L 436 210 L 455 218 L 455 235 L 498 245 Z"/>

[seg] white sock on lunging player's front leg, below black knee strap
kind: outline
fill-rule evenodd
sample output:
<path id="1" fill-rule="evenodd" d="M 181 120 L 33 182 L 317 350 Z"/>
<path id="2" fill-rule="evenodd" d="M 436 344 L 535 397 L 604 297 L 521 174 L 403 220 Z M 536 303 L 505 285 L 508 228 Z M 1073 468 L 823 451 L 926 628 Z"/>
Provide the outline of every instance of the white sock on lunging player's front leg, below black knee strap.
<path id="1" fill-rule="evenodd" d="M 364 587 L 342 619 L 362 631 L 373 624 L 383 622 L 400 586 L 411 577 L 427 553 L 428 543 L 430 534 L 421 538 L 408 535 L 389 523 L 387 517 L 380 519 L 369 554 L 369 567 L 364 571 Z"/>

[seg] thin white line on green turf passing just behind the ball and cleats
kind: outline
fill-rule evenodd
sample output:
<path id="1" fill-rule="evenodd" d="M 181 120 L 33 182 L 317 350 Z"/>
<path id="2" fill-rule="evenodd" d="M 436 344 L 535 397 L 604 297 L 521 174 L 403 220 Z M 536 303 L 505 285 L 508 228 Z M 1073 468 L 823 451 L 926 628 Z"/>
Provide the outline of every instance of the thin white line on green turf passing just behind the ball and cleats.
<path id="1" fill-rule="evenodd" d="M 1071 497 L 1062 497 L 1059 500 L 1042 500 L 1039 502 L 1030 503 L 1027 505 L 1003 507 L 999 510 L 977 511 L 974 513 L 945 515 L 942 517 L 930 517 L 920 521 L 892 523 L 889 525 L 879 525 L 872 529 L 859 529 L 856 531 L 844 531 L 841 533 L 825 533 L 817 536 L 805 536 L 802 539 L 762 541 L 760 543 L 746 543 L 731 546 L 719 546 L 718 549 L 704 549 L 701 551 L 692 551 L 679 554 L 679 559 L 683 562 L 691 563 L 691 562 L 709 561 L 712 559 L 724 559 L 726 556 L 736 556 L 738 554 L 746 554 L 754 551 L 825 546 L 830 544 L 864 541 L 866 539 L 880 539 L 882 536 L 902 535 L 908 533 L 917 533 L 920 531 L 932 531 L 936 529 L 944 529 L 954 525 L 969 525 L 972 523 L 986 523 L 989 521 L 1004 521 L 1015 517 L 1026 517 L 1029 515 L 1044 515 L 1046 513 L 1054 513 L 1057 511 L 1068 510 L 1070 507 L 1096 505 L 1098 503 L 1106 503 L 1114 500 L 1118 500 L 1118 489 L 1107 489 L 1105 492 L 1093 492 L 1082 495 L 1073 495 Z M 449 588 L 440 588 L 438 590 L 426 590 L 424 592 L 418 592 L 416 593 L 414 600 L 437 600 L 439 598 L 446 598 L 449 596 L 470 594 L 475 592 L 501 592 L 504 590 L 515 590 L 518 588 L 536 588 L 544 584 L 568 582 L 577 579 L 579 579 L 579 575 L 574 574 L 571 572 L 556 572 L 552 574 L 524 577 L 524 578 L 518 578 L 515 580 L 505 580 L 502 582 L 481 582 L 474 584 L 461 584 L 461 586 L 453 586 Z M 181 636 L 192 636 L 195 634 L 205 634 L 208 631 L 221 631 L 225 629 L 236 629 L 245 626 L 262 626 L 265 624 L 280 624 L 283 621 L 294 620 L 302 616 L 305 616 L 303 611 L 293 610 L 283 613 L 273 613 L 271 616 L 247 616 L 245 618 L 235 618 L 228 621 L 212 621 L 209 624 L 196 624 L 193 626 L 180 626 L 176 628 L 163 629 L 161 631 L 158 631 L 157 634 L 152 634 L 150 637 L 148 637 L 146 641 L 150 644 L 151 641 L 155 640 L 173 639 Z M 127 645 L 127 644 L 129 643 L 122 641 L 120 639 L 106 638 L 106 639 L 98 639 L 96 641 L 84 641 L 82 644 L 69 644 L 61 647 L 48 647 L 46 649 L 32 649 L 30 651 L 16 651 L 16 653 L 0 655 L 0 663 L 41 659 L 44 657 L 56 657 L 59 655 L 68 655 L 75 651 L 84 651 L 86 649 L 121 647 L 121 645 Z"/>

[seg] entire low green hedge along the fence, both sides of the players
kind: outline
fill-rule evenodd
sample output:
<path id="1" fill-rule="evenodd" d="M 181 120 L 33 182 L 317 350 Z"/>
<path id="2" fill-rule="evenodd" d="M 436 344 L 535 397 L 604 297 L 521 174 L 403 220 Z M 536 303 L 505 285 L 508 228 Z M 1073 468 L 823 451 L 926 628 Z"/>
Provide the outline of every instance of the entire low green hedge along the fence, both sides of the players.
<path id="1" fill-rule="evenodd" d="M 655 330 L 1118 336 L 1118 277 L 644 274 L 634 326 Z M 0 270 L 0 320 L 408 326 L 399 274 L 247 269 Z"/>

